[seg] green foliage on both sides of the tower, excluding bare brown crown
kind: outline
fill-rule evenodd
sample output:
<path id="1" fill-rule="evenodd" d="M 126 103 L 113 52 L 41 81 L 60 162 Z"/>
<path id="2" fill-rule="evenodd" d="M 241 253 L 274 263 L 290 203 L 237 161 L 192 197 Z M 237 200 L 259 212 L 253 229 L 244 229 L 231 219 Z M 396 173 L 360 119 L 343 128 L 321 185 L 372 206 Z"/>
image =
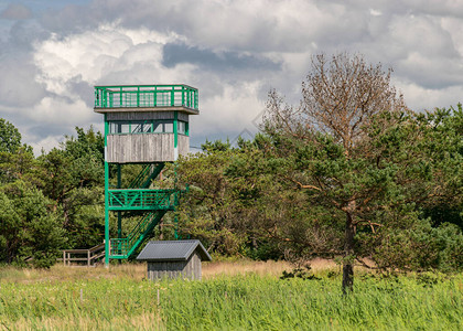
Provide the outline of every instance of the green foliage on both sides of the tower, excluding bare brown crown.
<path id="1" fill-rule="evenodd" d="M 373 125 L 370 148 L 351 159 L 323 135 L 301 142 L 265 131 L 237 147 L 206 142 L 175 169 L 190 184 L 179 233 L 223 255 L 335 258 L 344 244 L 336 206 L 357 194 L 354 258 L 384 270 L 461 270 L 462 114 L 459 105 L 402 114 L 387 129 Z M 137 175 L 131 167 L 122 181 Z M 58 249 L 101 243 L 103 169 L 103 137 L 93 129 L 77 128 L 76 138 L 39 158 L 28 147 L 0 152 L 0 259 L 50 266 Z M 320 183 L 326 190 L 311 190 Z M 166 217 L 164 238 L 173 229 Z"/>

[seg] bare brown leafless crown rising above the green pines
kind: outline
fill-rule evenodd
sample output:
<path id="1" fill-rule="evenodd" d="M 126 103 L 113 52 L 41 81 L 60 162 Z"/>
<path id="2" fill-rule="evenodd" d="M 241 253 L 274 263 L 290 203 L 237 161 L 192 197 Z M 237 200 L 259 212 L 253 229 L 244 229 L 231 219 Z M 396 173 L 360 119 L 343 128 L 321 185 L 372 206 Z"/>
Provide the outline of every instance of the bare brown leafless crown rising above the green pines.
<path id="1" fill-rule="evenodd" d="M 319 54 L 302 83 L 302 114 L 310 128 L 340 142 L 346 156 L 367 139 L 375 115 L 406 109 L 402 96 L 390 85 L 391 70 L 367 64 L 362 55 L 346 53 L 331 61 Z"/>

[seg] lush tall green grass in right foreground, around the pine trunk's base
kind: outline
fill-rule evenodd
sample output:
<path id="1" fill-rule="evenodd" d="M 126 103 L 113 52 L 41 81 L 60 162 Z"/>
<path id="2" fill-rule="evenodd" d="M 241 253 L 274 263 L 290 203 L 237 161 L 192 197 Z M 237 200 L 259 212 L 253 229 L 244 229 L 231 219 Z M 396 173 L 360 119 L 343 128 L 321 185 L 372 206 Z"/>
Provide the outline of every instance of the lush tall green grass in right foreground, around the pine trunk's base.
<path id="1" fill-rule="evenodd" d="M 269 277 L 175 282 L 162 301 L 170 330 L 459 330 L 462 278 L 357 280 L 343 296 L 340 279 Z"/>

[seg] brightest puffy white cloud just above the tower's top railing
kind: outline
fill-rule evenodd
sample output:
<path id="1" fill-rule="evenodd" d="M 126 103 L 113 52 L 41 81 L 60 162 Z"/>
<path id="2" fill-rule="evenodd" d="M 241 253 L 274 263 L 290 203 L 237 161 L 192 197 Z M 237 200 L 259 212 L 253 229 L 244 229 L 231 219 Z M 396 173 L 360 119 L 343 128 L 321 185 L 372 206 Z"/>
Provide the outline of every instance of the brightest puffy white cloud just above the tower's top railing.
<path id="1" fill-rule="evenodd" d="M 53 34 L 35 45 L 34 62 L 41 71 L 37 81 L 53 93 L 68 95 L 65 83 L 73 77 L 93 85 L 114 71 L 131 68 L 136 62 L 160 62 L 162 45 L 175 39 L 175 35 L 116 24 L 64 39 Z"/>

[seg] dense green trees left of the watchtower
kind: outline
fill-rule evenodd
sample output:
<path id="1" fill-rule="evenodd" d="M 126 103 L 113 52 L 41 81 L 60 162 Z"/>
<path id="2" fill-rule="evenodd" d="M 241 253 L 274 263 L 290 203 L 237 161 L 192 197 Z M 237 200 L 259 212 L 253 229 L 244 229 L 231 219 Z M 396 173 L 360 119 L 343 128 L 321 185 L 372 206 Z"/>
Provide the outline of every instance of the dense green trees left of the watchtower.
<path id="1" fill-rule="evenodd" d="M 15 148 L 0 151 L 0 260 L 49 267 L 60 249 L 101 243 L 104 140 L 91 128 L 76 131 L 39 158 L 19 132 Z"/>

